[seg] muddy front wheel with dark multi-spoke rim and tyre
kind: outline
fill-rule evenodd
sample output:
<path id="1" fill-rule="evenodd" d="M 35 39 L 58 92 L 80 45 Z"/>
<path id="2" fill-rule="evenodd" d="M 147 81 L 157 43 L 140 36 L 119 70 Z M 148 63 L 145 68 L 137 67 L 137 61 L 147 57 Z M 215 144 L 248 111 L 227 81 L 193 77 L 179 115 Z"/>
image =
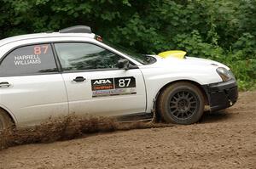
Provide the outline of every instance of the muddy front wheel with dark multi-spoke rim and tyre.
<path id="1" fill-rule="evenodd" d="M 162 120 L 183 125 L 199 121 L 204 106 L 201 90 L 189 82 L 177 82 L 166 87 L 157 104 Z"/>

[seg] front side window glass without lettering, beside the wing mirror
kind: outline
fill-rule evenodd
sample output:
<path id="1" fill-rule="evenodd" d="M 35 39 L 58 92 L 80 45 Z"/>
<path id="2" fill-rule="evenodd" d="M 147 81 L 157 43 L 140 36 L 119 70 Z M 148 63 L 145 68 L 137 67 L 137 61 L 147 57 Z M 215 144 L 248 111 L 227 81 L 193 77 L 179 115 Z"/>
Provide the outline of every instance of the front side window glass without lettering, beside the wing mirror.
<path id="1" fill-rule="evenodd" d="M 55 49 L 63 70 L 117 68 L 120 57 L 91 43 L 56 43 Z"/>

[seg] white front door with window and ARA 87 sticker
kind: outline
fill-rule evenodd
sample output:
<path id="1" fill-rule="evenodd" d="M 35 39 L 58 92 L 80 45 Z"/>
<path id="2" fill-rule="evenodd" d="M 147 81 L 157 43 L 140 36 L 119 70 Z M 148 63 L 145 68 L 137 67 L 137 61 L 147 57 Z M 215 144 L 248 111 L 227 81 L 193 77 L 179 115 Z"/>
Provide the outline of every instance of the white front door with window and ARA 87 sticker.
<path id="1" fill-rule="evenodd" d="M 141 70 L 119 70 L 117 54 L 88 42 L 55 43 L 75 114 L 127 115 L 146 108 Z"/>

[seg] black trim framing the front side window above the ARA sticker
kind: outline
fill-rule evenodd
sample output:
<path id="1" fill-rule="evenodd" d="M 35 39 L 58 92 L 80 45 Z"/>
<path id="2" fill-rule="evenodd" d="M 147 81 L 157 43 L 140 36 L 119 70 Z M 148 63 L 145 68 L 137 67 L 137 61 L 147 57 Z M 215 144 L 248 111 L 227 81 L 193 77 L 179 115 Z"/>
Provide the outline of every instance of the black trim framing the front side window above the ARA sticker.
<path id="1" fill-rule="evenodd" d="M 121 59 L 126 59 L 124 58 L 123 56 L 120 56 L 119 54 L 117 54 L 116 52 L 114 52 L 113 50 L 110 50 L 108 48 L 105 48 L 105 47 L 102 47 L 101 45 L 99 44 L 96 44 L 94 42 L 89 42 L 89 41 L 60 41 L 60 42 L 52 42 L 53 44 L 53 47 L 54 47 L 54 53 L 56 55 L 56 58 L 57 58 L 57 62 L 58 64 L 60 65 L 60 69 L 61 69 L 61 73 L 79 73 L 79 72 L 94 72 L 94 71 L 109 71 L 109 70 L 122 70 L 122 69 L 119 69 L 119 68 L 103 68 L 103 69 L 90 69 L 90 70 L 63 70 L 62 67 L 61 67 L 61 62 L 60 62 L 60 59 L 59 59 L 59 56 L 56 52 L 56 49 L 55 49 L 55 44 L 56 43 L 90 43 L 92 45 L 96 45 L 100 48 L 104 48 L 105 50 L 108 50 L 109 52 L 113 53 L 113 54 L 116 54 L 117 56 L 119 56 Z M 128 59 L 129 62 L 132 64 L 132 65 L 136 65 L 135 63 L 133 63 L 130 59 Z M 138 69 L 138 68 L 137 68 Z"/>

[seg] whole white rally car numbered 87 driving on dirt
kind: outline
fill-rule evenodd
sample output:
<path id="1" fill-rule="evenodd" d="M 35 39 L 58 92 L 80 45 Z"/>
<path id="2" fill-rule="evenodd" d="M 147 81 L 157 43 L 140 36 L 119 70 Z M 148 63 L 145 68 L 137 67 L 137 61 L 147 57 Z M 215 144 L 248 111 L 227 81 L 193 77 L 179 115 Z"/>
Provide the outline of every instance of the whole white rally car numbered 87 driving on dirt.
<path id="1" fill-rule="evenodd" d="M 175 52 L 174 52 L 175 53 Z M 236 79 L 209 59 L 135 54 L 73 26 L 0 41 L 0 129 L 61 115 L 192 124 L 236 103 Z"/>

